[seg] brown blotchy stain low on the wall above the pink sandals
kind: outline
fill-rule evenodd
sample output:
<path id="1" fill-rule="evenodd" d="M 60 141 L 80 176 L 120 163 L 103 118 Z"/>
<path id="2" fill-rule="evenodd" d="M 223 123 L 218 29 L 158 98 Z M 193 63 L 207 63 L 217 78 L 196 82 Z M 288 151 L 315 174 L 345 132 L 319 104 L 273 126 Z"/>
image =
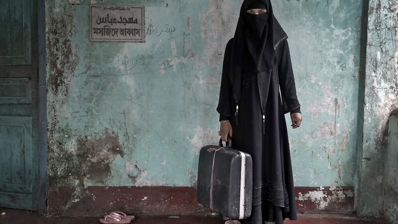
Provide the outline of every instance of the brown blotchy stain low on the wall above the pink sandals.
<path id="1" fill-rule="evenodd" d="M 123 158 L 125 154 L 117 133 L 107 128 L 102 136 L 80 136 L 76 144 L 69 147 L 72 148 L 63 145 L 57 152 L 52 152 L 49 183 L 54 187 L 76 187 L 79 194 L 84 193 L 88 180 L 105 183 L 112 174 L 110 164 L 116 156 Z"/>

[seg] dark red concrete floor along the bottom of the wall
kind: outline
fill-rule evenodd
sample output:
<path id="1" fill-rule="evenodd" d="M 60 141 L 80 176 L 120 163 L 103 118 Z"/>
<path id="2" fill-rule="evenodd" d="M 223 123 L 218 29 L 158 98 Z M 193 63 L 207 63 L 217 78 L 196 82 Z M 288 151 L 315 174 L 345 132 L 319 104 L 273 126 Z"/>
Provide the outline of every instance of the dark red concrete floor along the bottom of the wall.
<path id="1" fill-rule="evenodd" d="M 0 208 L 0 224 L 100 224 L 99 218 L 46 218 L 35 212 Z M 136 217 L 132 224 L 223 224 L 218 217 Z M 383 220 L 366 219 L 354 215 L 305 214 L 298 215 L 297 221 L 286 219 L 285 224 L 388 224 Z"/>

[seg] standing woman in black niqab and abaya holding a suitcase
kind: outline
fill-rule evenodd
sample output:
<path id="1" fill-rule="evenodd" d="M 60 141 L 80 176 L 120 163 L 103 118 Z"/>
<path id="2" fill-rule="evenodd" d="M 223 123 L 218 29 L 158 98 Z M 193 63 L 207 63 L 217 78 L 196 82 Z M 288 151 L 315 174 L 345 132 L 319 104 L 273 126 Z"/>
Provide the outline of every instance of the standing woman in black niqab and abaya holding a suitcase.
<path id="1" fill-rule="evenodd" d="M 248 13 L 260 8 L 266 12 Z M 243 224 L 297 220 L 285 113 L 290 112 L 293 128 L 302 117 L 287 38 L 270 0 L 244 0 L 225 48 L 219 135 L 231 136 L 232 148 L 253 160 L 252 213 Z"/>

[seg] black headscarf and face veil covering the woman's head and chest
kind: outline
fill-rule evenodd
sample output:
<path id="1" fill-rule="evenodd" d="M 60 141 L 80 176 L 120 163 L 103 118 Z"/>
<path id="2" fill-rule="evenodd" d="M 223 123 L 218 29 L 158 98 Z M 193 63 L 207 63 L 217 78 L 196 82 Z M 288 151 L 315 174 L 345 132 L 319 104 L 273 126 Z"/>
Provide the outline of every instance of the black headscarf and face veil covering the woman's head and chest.
<path id="1" fill-rule="evenodd" d="M 266 13 L 249 14 L 248 9 L 265 8 Z M 276 19 L 270 0 L 244 0 L 233 40 L 233 61 L 249 72 L 262 72 L 277 64 L 274 49 Z"/>

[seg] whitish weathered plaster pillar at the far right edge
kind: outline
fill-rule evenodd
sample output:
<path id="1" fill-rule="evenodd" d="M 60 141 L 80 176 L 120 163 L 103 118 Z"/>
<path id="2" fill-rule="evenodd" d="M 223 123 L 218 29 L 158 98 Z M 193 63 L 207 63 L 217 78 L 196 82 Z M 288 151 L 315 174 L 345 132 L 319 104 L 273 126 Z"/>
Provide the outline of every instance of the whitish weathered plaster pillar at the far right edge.
<path id="1" fill-rule="evenodd" d="M 358 213 L 382 216 L 389 115 L 398 107 L 398 4 L 370 0 Z"/>

